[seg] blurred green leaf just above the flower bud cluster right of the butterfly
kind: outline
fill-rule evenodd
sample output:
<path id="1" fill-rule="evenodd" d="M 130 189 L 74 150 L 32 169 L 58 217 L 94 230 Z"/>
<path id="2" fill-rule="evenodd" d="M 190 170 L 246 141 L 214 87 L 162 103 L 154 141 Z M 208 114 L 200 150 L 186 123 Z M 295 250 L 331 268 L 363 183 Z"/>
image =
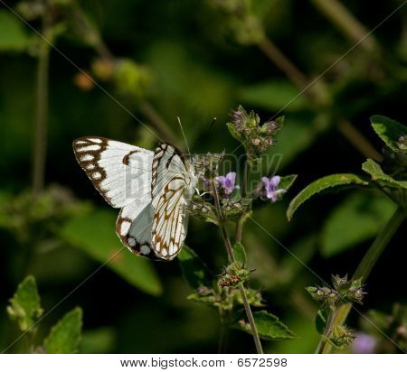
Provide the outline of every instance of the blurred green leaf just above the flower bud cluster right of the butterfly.
<path id="1" fill-rule="evenodd" d="M 268 111 L 299 111 L 307 109 L 304 96 L 299 95 L 298 88 L 287 80 L 272 80 L 254 84 L 240 89 L 239 99 L 246 105 L 264 108 Z"/>

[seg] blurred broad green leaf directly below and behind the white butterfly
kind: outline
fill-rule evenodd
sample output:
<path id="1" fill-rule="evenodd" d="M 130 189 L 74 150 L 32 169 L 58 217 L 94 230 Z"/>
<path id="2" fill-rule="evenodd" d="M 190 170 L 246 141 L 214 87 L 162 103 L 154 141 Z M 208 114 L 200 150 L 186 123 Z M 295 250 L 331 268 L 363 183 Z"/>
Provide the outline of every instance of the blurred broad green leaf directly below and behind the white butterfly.
<path id="1" fill-rule="evenodd" d="M 61 236 L 72 246 L 122 276 L 128 283 L 153 295 L 162 293 L 156 271 L 146 258 L 128 252 L 116 236 L 116 214 L 103 209 L 72 217 L 62 227 Z"/>

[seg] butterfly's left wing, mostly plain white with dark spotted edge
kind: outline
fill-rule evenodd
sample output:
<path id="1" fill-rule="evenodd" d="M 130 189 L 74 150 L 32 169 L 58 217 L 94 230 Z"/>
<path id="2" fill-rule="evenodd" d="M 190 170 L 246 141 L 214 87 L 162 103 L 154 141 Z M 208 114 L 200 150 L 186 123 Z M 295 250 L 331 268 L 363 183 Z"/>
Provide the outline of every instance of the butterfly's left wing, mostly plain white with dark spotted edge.
<path id="1" fill-rule="evenodd" d="M 112 207 L 120 208 L 116 232 L 138 256 L 155 256 L 151 249 L 151 167 L 154 153 L 103 137 L 73 142 L 80 167 Z"/>

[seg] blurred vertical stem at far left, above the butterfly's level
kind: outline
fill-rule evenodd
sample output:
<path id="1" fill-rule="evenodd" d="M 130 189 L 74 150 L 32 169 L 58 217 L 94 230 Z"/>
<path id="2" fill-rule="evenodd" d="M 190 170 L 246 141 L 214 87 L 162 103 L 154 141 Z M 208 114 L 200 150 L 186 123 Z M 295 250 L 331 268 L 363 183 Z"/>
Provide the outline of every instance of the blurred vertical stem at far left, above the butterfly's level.
<path id="1" fill-rule="evenodd" d="M 47 33 L 50 20 L 47 10 L 43 16 L 43 34 Z M 48 128 L 48 70 L 50 45 L 41 41 L 37 64 L 37 115 L 33 145 L 33 196 L 43 191 L 47 128 Z"/>

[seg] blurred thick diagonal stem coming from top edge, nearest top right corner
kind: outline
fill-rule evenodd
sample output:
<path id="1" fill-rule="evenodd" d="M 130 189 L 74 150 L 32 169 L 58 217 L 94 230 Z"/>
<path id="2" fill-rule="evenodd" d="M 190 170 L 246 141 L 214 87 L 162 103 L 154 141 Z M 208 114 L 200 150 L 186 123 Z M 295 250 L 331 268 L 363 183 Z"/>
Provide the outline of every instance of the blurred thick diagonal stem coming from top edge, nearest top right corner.
<path id="1" fill-rule="evenodd" d="M 336 25 L 336 27 L 345 34 L 352 42 L 360 42 L 368 32 L 362 23 L 360 23 L 353 14 L 345 8 L 344 5 L 336 0 L 312 0 L 319 11 Z M 365 51 L 378 50 L 377 42 L 373 35 L 369 35 L 361 43 Z"/>

